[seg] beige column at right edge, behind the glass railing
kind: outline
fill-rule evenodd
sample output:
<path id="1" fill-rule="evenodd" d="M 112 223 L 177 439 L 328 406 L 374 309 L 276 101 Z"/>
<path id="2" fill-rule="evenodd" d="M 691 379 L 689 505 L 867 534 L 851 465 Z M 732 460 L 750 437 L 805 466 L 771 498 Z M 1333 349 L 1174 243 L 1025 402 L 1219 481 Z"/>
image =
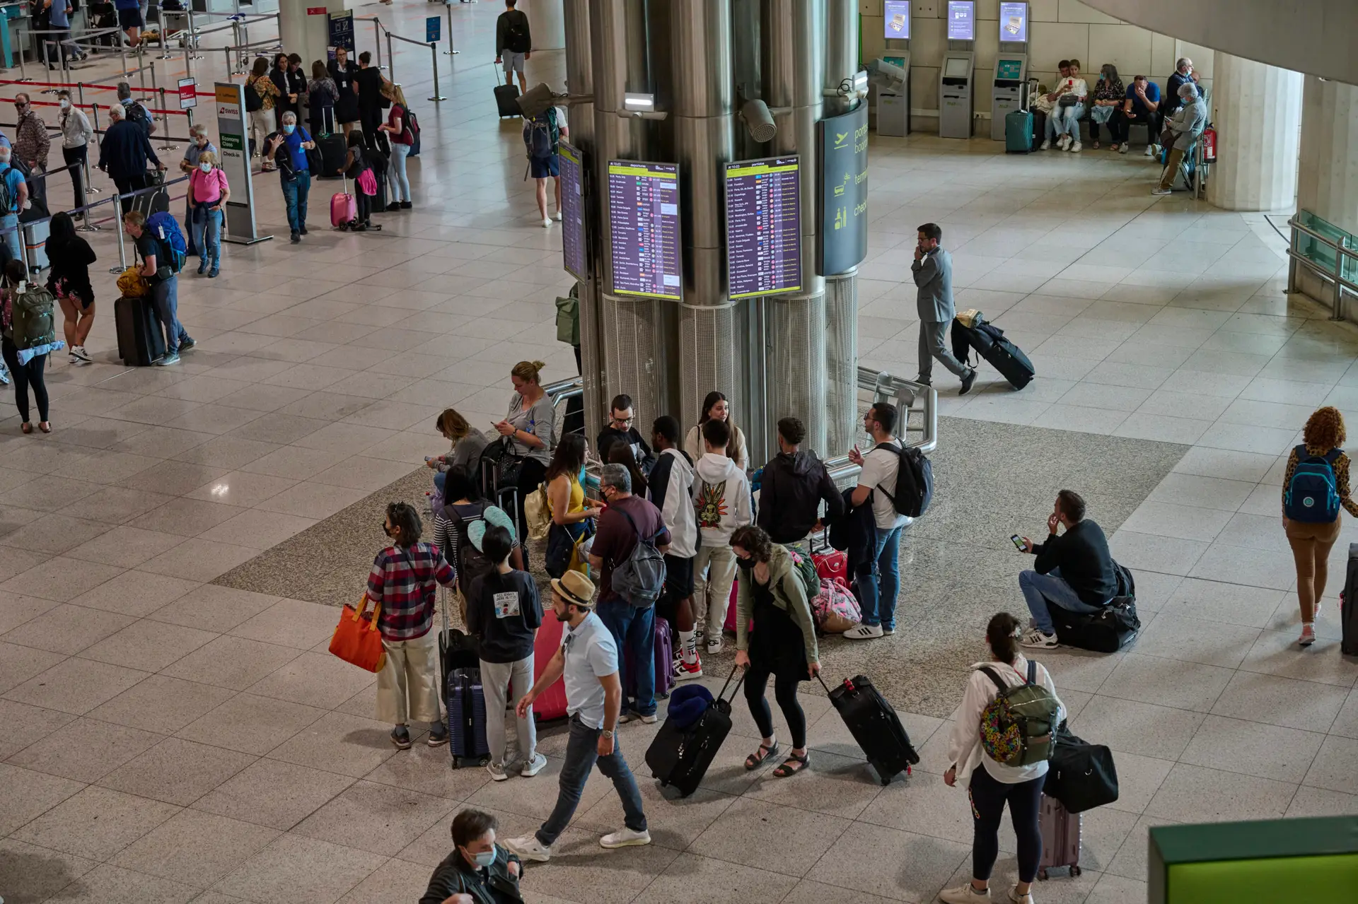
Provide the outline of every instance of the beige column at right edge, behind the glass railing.
<path id="1" fill-rule="evenodd" d="M 1358 235 L 1358 87 L 1306 76 L 1297 208 Z"/>

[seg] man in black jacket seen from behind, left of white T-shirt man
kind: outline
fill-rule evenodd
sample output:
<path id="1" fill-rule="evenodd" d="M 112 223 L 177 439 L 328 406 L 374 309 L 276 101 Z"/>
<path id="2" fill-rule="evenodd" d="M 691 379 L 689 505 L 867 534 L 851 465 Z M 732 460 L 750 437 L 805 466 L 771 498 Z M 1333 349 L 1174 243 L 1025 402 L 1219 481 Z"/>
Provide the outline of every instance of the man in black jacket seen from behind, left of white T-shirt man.
<path id="1" fill-rule="evenodd" d="M 778 421 L 778 455 L 765 466 L 759 487 L 759 527 L 774 543 L 796 543 L 820 527 L 820 501 L 827 520 L 843 514 L 845 501 L 826 466 L 801 449 L 807 428 L 799 418 Z"/>

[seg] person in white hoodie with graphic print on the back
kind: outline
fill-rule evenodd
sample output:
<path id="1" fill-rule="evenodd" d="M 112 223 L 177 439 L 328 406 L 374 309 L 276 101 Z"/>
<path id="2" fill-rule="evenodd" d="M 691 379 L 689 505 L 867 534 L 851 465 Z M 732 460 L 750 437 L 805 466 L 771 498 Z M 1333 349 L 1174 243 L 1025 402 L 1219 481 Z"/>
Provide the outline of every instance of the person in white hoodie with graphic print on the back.
<path id="1" fill-rule="evenodd" d="M 698 517 L 698 555 L 693 562 L 694 600 L 708 614 L 708 653 L 721 652 L 721 628 L 727 622 L 731 585 L 736 578 L 736 554 L 731 535 L 754 521 L 750 481 L 727 455 L 731 428 L 716 418 L 702 425 L 703 456 L 693 483 L 693 505 Z"/>

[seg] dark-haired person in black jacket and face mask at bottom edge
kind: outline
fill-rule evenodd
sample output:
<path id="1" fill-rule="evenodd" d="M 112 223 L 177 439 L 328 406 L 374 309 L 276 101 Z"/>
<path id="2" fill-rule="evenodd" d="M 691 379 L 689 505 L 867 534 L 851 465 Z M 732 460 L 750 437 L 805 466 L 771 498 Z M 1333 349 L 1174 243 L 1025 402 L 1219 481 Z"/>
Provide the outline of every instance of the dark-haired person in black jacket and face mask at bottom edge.
<path id="1" fill-rule="evenodd" d="M 496 844 L 496 817 L 466 809 L 452 817 L 452 854 L 429 877 L 420 904 L 519 903 L 523 863 Z"/>

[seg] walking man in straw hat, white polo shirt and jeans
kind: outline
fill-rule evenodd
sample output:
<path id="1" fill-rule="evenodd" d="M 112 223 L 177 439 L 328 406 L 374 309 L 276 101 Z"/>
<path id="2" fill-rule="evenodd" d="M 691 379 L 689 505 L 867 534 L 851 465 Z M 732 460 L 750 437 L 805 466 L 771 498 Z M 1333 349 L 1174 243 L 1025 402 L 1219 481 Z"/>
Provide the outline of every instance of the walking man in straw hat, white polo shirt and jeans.
<path id="1" fill-rule="evenodd" d="M 546 671 L 519 700 L 519 718 L 532 718 L 532 702 L 557 679 L 566 683 L 566 713 L 570 715 L 570 740 L 566 763 L 561 767 L 561 790 L 551 816 L 532 835 L 505 840 L 505 847 L 526 861 L 551 858 L 551 844 L 566 831 L 580 805 L 589 770 L 612 779 L 622 798 L 623 828 L 599 839 L 603 847 L 650 844 L 646 814 L 641 810 L 641 791 L 631 776 L 622 749 L 614 737 L 622 709 L 622 680 L 618 675 L 618 646 L 612 634 L 593 614 L 595 585 L 579 571 L 566 571 L 551 582 L 551 611 L 566 623 L 561 647 Z"/>

